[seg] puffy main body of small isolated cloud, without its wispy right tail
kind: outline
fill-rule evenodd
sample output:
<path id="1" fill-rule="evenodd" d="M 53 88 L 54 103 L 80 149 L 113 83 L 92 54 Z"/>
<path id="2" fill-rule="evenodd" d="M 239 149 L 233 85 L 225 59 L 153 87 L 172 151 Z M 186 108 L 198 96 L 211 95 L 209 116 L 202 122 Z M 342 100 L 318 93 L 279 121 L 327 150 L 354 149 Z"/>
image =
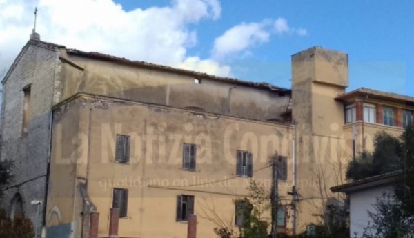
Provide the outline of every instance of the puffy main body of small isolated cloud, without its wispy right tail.
<path id="1" fill-rule="evenodd" d="M 270 34 L 266 23 L 241 23 L 233 26 L 215 39 L 212 50 L 213 58 L 221 59 L 237 52 L 269 41 Z"/>

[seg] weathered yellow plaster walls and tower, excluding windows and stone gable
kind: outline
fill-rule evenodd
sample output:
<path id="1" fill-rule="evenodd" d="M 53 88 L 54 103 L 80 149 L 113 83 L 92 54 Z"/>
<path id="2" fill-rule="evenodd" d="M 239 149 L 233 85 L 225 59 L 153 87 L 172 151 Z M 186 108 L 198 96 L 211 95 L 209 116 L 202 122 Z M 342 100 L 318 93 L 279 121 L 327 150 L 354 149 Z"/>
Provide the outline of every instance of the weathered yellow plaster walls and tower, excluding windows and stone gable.
<path id="1" fill-rule="evenodd" d="M 234 201 L 248 196 L 250 178 L 235 175 L 237 150 L 252 153 L 253 179 L 266 190 L 270 156 L 288 157 L 279 196 L 286 206 L 286 230 L 293 231 L 296 208 L 299 233 L 318 221 L 328 199 L 341 199 L 329 188 L 345 182 L 353 132 L 356 152 L 372 150 L 377 131 L 402 132 L 379 123 L 345 123 L 345 106 L 357 99 L 338 99 L 348 86 L 348 56 L 323 48 L 293 55 L 291 95 L 66 50 L 61 61 L 46 213 L 58 208 L 61 224 L 76 224 L 75 237 L 87 235 L 88 209 L 99 212 L 99 237 L 108 235 L 113 188 L 128 190 L 120 237 L 186 237 L 186 223 L 175 220 L 177 195 L 195 196 L 197 235 L 214 237 L 214 213 L 233 226 Z M 290 100 L 292 121 L 286 123 L 281 115 Z M 401 101 L 393 106 L 407 107 Z M 117 135 L 130 137 L 128 163 L 115 161 Z M 197 146 L 195 171 L 182 170 L 184 143 Z"/>

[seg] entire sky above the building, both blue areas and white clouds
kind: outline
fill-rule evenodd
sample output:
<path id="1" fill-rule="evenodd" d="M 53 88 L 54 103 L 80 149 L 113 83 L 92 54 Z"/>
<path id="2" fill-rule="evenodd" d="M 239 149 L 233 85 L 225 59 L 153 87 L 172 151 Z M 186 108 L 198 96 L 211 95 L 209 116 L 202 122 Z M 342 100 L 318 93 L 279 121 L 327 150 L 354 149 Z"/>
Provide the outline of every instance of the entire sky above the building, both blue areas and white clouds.
<path id="1" fill-rule="evenodd" d="M 348 53 L 350 87 L 414 96 L 414 1 L 0 0 L 0 74 L 44 41 L 290 88 L 290 56 Z M 74 17 L 75 16 L 75 17 Z"/>

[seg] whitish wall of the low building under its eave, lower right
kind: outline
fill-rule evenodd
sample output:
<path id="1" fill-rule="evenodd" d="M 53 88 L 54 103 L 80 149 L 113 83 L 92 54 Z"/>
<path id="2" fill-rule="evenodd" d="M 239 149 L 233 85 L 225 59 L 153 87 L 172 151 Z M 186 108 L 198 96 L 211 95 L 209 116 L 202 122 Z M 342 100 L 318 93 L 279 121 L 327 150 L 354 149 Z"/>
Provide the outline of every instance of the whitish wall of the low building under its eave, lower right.
<path id="1" fill-rule="evenodd" d="M 392 189 L 391 185 L 383 185 L 350 193 L 350 237 L 359 238 L 364 235 L 368 224 L 372 225 L 368 211 L 374 212 L 373 205 L 377 198 L 381 198 L 384 192 L 392 192 Z M 375 234 L 372 228 L 371 232 Z"/>

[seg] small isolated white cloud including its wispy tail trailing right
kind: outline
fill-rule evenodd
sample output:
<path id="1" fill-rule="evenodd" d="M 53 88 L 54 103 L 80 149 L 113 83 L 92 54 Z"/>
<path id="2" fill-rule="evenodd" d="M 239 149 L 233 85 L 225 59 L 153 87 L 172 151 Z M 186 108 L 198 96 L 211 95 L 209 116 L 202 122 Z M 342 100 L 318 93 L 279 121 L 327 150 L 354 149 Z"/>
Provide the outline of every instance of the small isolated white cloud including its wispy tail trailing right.
<path id="1" fill-rule="evenodd" d="M 308 31 L 304 28 L 290 28 L 282 17 L 276 20 L 265 19 L 260 23 L 240 23 L 217 37 L 211 51 L 213 59 L 221 60 L 232 55 L 248 55 L 250 48 L 270 41 L 272 34 L 296 34 L 304 37 Z"/>

